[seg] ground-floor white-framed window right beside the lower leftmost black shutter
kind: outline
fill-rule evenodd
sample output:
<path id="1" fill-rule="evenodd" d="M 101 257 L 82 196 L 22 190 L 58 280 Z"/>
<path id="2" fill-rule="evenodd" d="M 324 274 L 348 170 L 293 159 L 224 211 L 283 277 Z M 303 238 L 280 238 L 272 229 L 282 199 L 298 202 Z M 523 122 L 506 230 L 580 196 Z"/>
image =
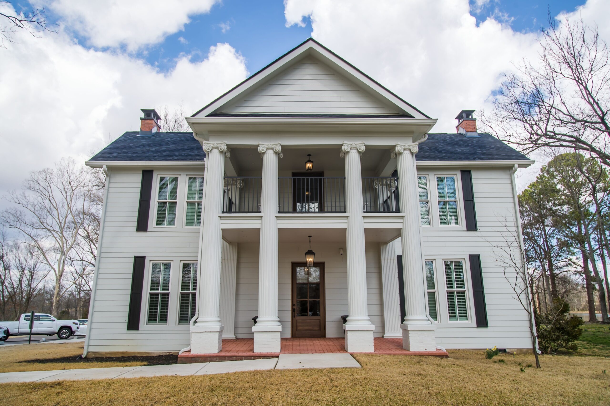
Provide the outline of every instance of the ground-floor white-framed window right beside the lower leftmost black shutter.
<path id="1" fill-rule="evenodd" d="M 148 289 L 148 324 L 167 324 L 170 308 L 171 262 L 151 262 Z"/>

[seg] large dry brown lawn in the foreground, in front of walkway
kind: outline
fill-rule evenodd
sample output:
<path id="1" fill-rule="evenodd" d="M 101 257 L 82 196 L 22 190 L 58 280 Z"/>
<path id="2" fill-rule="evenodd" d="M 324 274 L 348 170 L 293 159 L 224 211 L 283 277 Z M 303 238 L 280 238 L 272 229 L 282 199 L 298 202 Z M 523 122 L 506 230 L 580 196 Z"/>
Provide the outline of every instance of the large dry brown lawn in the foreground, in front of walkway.
<path id="1" fill-rule="evenodd" d="M 15 405 L 608 405 L 610 359 L 450 351 L 450 359 L 356 355 L 362 369 L 9 383 Z M 504 359 L 504 363 L 494 363 Z M 603 369 L 608 373 L 604 374 Z"/>

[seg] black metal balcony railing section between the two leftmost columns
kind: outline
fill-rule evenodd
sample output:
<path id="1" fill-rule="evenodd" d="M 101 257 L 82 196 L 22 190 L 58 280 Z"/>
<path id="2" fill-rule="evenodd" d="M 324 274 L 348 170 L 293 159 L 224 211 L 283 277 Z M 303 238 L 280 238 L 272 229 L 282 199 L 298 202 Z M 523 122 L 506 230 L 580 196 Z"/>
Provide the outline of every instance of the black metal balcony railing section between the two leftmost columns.
<path id="1" fill-rule="evenodd" d="M 259 213 L 261 177 L 224 177 L 223 213 Z"/>

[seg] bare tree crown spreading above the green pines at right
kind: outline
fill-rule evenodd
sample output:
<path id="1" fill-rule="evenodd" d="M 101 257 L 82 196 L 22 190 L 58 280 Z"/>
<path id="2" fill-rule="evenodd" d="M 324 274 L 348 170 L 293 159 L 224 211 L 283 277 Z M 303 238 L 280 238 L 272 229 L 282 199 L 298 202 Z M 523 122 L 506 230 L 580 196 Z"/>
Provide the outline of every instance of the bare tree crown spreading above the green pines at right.
<path id="1" fill-rule="evenodd" d="M 523 152 L 580 150 L 610 166 L 610 53 L 597 27 L 565 18 L 539 40 L 539 61 L 506 74 L 484 130 Z"/>

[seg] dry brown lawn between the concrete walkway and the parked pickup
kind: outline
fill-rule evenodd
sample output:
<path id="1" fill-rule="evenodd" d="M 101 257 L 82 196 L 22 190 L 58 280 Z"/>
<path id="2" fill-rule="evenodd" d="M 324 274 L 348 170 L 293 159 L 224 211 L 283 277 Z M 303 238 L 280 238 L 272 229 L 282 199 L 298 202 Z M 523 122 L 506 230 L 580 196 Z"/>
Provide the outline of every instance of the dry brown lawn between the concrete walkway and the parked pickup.
<path id="1" fill-rule="evenodd" d="M 110 366 L 140 366 L 146 362 L 88 362 L 88 363 L 21 363 L 20 361 L 78 357 L 84 343 L 21 344 L 0 346 L 0 373 L 21 371 L 52 371 L 54 369 L 109 368 Z"/>

